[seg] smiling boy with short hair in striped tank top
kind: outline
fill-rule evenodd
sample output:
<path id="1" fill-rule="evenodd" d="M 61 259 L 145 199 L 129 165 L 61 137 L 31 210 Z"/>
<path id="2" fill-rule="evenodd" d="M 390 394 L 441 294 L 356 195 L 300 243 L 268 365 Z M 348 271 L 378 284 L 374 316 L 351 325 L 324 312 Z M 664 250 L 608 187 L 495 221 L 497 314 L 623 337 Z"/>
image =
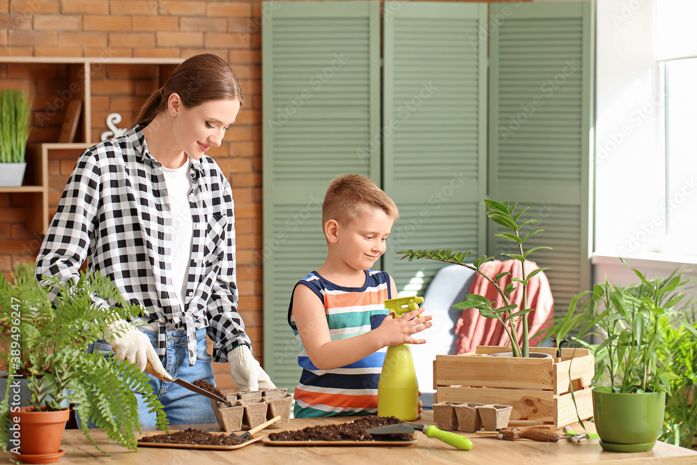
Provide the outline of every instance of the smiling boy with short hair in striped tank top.
<path id="1" fill-rule="evenodd" d="M 371 179 L 346 174 L 330 183 L 322 204 L 327 259 L 296 284 L 288 309 L 302 367 L 296 418 L 376 413 L 381 349 L 425 342 L 412 335 L 429 328 L 431 317 L 417 319 L 423 309 L 385 317 L 383 301 L 396 298 L 397 287 L 388 273 L 371 269 L 398 217 Z"/>

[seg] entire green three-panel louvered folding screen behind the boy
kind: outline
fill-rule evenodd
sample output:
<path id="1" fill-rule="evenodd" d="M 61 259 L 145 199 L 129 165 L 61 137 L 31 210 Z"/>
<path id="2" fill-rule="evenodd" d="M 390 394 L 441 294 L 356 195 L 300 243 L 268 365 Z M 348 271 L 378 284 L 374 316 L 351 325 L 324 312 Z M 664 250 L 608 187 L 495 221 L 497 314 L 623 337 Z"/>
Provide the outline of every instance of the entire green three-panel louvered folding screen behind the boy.
<path id="1" fill-rule="evenodd" d="M 370 176 L 397 202 L 376 266 L 400 291 L 422 294 L 442 265 L 399 261 L 397 250 L 506 250 L 490 239 L 487 197 L 541 220 L 539 243 L 555 250 L 531 257 L 554 268 L 557 307 L 590 287 L 590 2 L 264 9 L 259 261 L 264 362 L 278 386 L 298 383 L 286 312 L 293 285 L 325 259 L 321 201 L 337 174 Z"/>

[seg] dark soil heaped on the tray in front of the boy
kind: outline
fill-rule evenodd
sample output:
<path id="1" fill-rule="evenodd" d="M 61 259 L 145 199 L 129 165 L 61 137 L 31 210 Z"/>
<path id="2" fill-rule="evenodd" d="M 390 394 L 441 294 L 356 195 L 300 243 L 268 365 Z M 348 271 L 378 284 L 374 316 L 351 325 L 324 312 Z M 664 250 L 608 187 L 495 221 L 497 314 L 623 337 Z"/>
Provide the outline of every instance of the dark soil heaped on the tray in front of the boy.
<path id="1" fill-rule="evenodd" d="M 411 434 L 368 434 L 366 429 L 384 425 L 396 425 L 397 417 L 365 416 L 339 425 L 321 425 L 270 433 L 271 441 L 413 441 Z"/>

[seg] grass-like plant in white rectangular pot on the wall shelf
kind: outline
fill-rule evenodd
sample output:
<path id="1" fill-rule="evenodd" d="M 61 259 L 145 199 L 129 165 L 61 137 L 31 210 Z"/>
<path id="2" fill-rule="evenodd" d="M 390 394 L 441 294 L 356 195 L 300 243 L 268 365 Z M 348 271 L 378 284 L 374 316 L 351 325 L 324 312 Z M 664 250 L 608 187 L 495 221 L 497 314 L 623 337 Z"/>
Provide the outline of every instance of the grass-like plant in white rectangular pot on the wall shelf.
<path id="1" fill-rule="evenodd" d="M 0 91 L 0 186 L 16 187 L 24 179 L 24 152 L 29 139 L 31 98 L 18 89 Z"/>

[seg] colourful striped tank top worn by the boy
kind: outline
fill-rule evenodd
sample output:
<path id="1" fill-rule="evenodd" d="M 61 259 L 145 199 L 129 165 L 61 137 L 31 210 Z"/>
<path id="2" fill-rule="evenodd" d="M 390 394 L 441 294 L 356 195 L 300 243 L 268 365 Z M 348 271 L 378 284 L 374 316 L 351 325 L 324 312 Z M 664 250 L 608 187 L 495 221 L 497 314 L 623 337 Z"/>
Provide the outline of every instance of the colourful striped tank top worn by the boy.
<path id="1" fill-rule="evenodd" d="M 296 284 L 304 284 L 324 303 L 332 341 L 347 339 L 377 328 L 389 313 L 383 302 L 391 298 L 390 275 L 365 270 L 363 287 L 342 287 L 325 280 L 316 271 Z M 293 294 L 295 288 L 293 288 Z M 317 369 L 302 346 L 292 312 L 288 323 L 298 340 L 298 365 L 302 368 L 295 390 L 296 418 L 370 415 L 378 411 L 378 381 L 385 360 L 385 348 L 354 363 L 334 369 Z"/>

